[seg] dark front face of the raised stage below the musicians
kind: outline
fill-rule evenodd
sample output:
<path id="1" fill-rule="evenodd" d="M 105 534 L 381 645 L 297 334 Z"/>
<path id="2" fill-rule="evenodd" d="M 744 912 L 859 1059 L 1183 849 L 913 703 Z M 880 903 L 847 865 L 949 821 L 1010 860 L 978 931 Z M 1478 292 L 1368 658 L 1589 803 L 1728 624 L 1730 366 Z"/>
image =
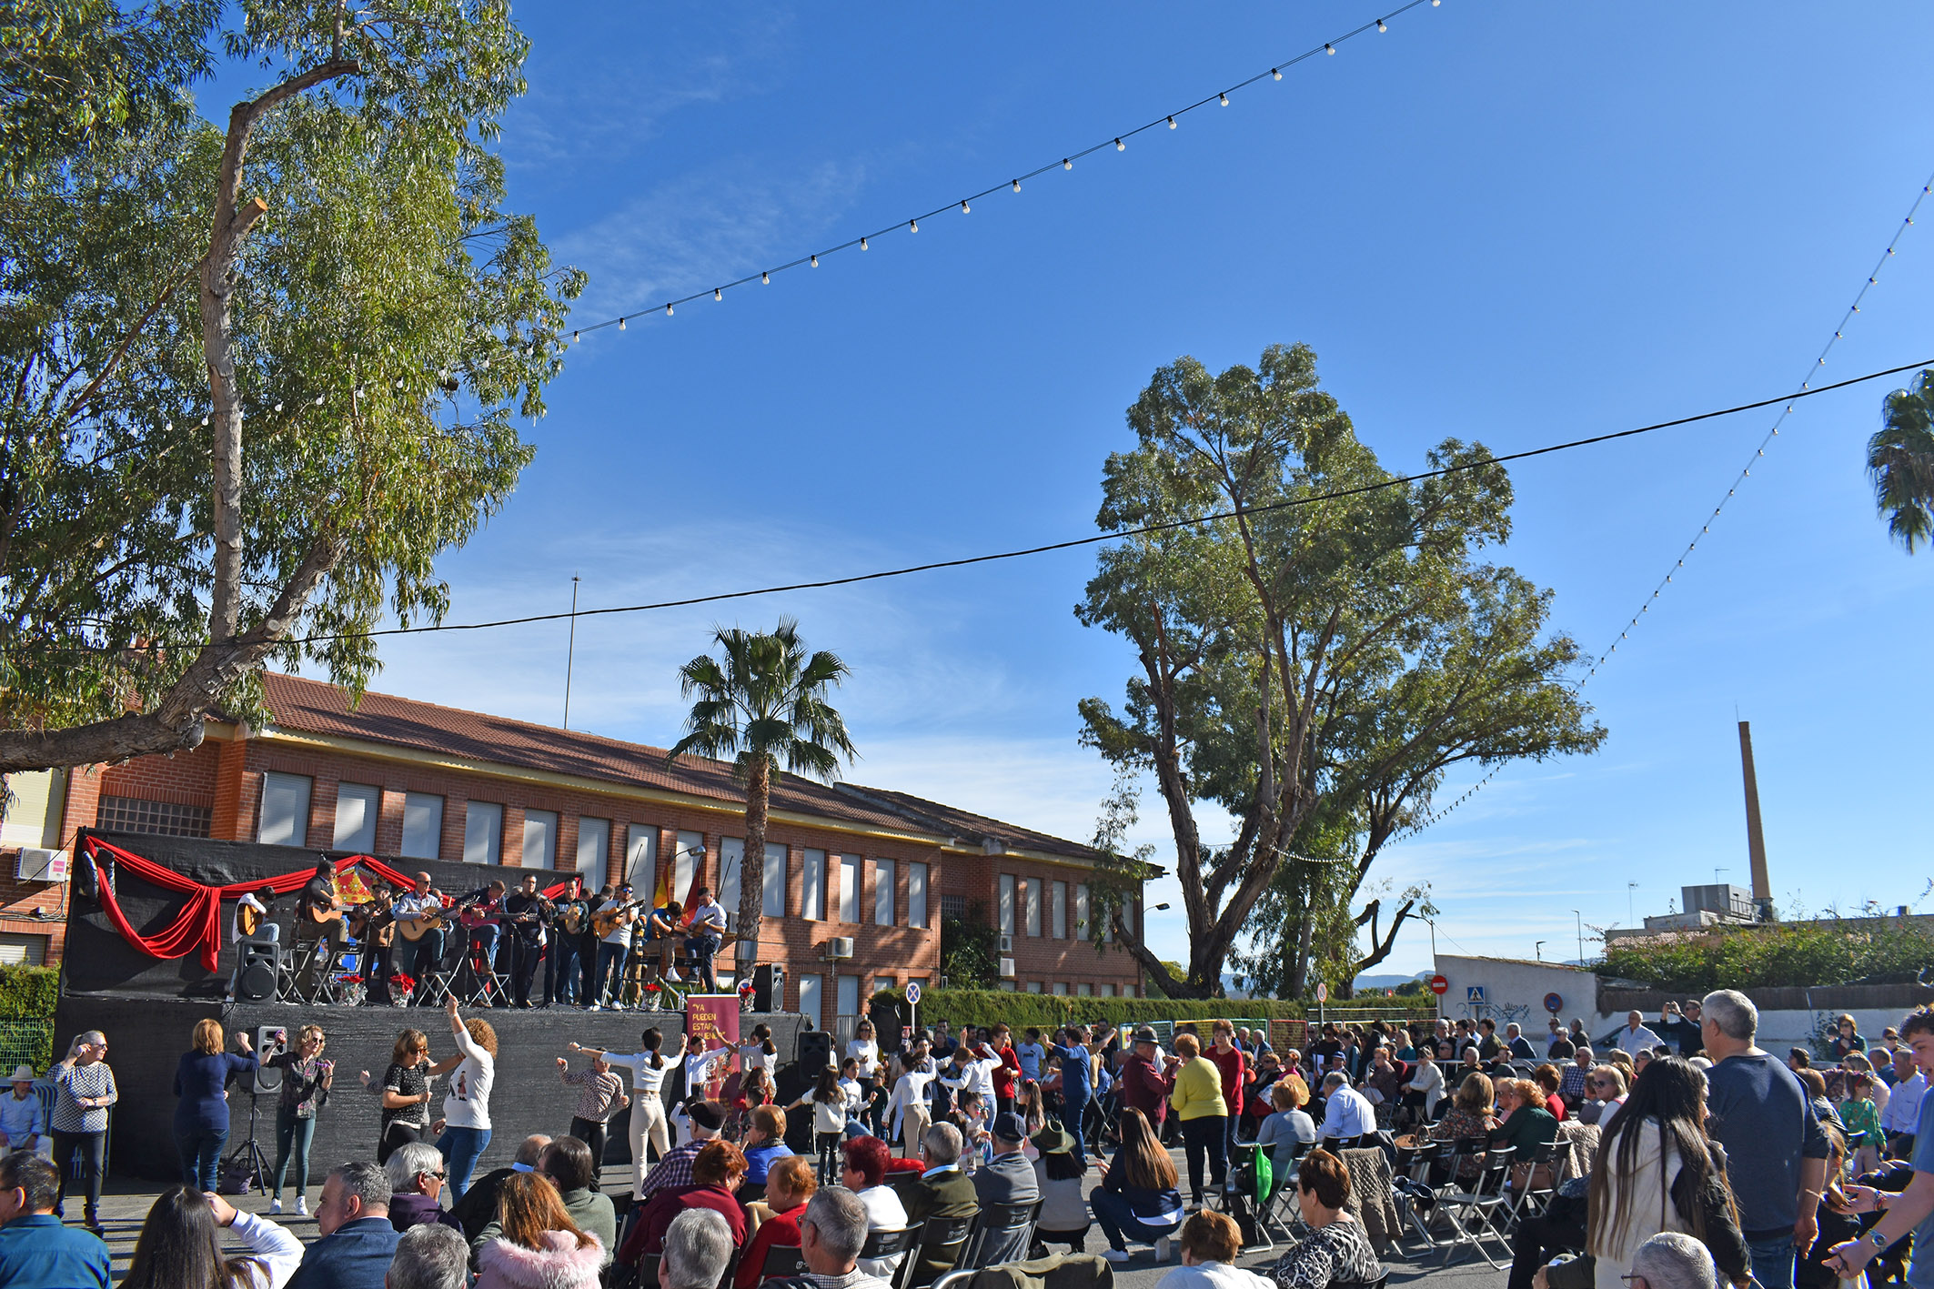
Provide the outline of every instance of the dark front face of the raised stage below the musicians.
<path id="1" fill-rule="evenodd" d="M 571 1042 L 586 1047 L 636 1051 L 646 1028 L 665 1034 L 667 1049 L 685 1032 L 685 1013 L 679 1011 L 580 1011 L 561 1007 L 484 1009 L 464 1011 L 464 1017 L 484 1017 L 497 1030 L 497 1080 L 491 1090 L 491 1142 L 478 1171 L 511 1161 L 516 1146 L 532 1132 L 561 1136 L 571 1127 L 571 1111 L 578 1088 L 565 1086 L 557 1076 L 557 1057 L 569 1057 L 572 1069 L 582 1069 L 586 1057 L 569 1049 Z M 174 1148 L 174 1069 L 190 1049 L 195 1022 L 213 1017 L 234 1034 L 244 1030 L 249 1042 L 257 1026 L 280 1026 L 294 1038 L 296 1028 L 319 1024 L 329 1038 L 325 1055 L 337 1063 L 335 1090 L 315 1123 L 315 1144 L 309 1152 L 311 1179 L 346 1160 L 373 1160 L 379 1107 L 364 1092 L 358 1071 L 369 1071 L 377 1082 L 389 1065 L 396 1034 L 414 1026 L 429 1036 L 431 1059 L 443 1059 L 454 1049 L 449 1018 L 441 1007 L 309 1007 L 292 1003 L 217 1005 L 178 997 L 130 997 L 104 993 L 64 993 L 54 1017 L 54 1057 L 83 1030 L 101 1030 L 108 1038 L 108 1065 L 120 1088 L 110 1132 L 110 1173 L 151 1181 L 176 1181 L 180 1161 Z M 772 1026 L 781 1059 L 795 1055 L 795 1044 L 805 1017 L 795 1013 L 741 1013 L 741 1034 L 752 1026 Z M 441 1113 L 443 1080 L 431 1100 L 431 1119 Z M 665 1102 L 683 1096 L 683 1074 L 665 1078 Z M 249 1092 L 230 1086 L 228 1150 L 249 1132 Z M 255 1105 L 255 1140 L 275 1163 L 275 1096 L 265 1094 Z M 630 1160 L 629 1113 L 611 1119 L 607 1165 Z M 226 1154 L 226 1152 L 224 1152 Z"/>

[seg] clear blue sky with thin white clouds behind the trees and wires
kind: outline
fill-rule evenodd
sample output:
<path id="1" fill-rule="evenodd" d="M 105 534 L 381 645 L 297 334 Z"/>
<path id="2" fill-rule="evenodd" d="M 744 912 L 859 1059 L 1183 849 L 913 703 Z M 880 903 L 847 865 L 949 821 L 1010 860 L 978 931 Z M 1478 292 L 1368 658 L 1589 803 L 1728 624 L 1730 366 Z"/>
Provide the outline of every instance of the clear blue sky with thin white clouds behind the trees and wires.
<path id="1" fill-rule="evenodd" d="M 594 321 L 1004 182 L 1379 12 L 526 6 L 513 205 L 592 274 Z M 1391 468 L 1449 435 L 1516 450 L 1777 396 L 1934 170 L 1930 37 L 1907 4 L 1410 10 L 1126 153 L 586 340 L 516 497 L 445 560 L 453 620 L 561 611 L 572 572 L 596 607 L 1085 535 L 1124 410 L 1182 354 L 1311 344 Z M 1934 358 L 1930 234 L 1901 240 L 1826 379 Z M 1744 883 L 1735 711 L 1781 904 L 1920 899 L 1934 557 L 1874 518 L 1886 388 L 1802 404 L 1754 462 L 1588 688 L 1603 752 L 1510 767 L 1377 864 L 1433 883 L 1441 949 L 1572 957 L 1572 910 L 1628 924 L 1628 881 L 1640 916 L 1715 868 Z M 1597 653 L 1768 425 L 1526 462 L 1501 559 Z M 669 742 L 673 671 L 710 626 L 789 613 L 853 667 L 855 779 L 1085 839 L 1108 773 L 1075 702 L 1129 671 L 1071 615 L 1091 566 L 586 620 L 572 725 Z M 385 663 L 387 692 L 561 715 L 563 624 L 387 642 Z M 1153 792 L 1143 817 L 1172 860 Z M 1186 957 L 1180 902 L 1149 928 Z M 1379 970 L 1425 966 L 1418 926 Z"/>

